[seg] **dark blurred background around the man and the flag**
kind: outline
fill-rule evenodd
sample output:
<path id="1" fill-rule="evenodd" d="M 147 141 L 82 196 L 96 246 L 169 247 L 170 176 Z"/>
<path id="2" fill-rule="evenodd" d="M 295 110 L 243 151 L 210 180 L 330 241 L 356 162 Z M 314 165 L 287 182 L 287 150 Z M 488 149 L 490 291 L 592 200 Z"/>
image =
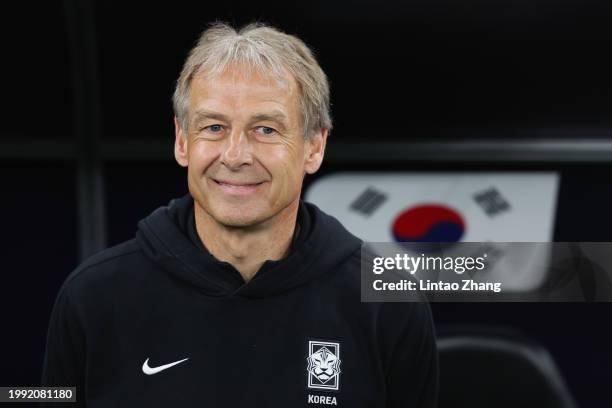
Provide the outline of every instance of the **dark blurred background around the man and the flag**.
<path id="1" fill-rule="evenodd" d="M 216 19 L 297 34 L 327 72 L 335 150 L 306 187 L 338 170 L 554 170 L 555 240 L 612 241 L 612 3 L 5 2 L 0 385 L 38 385 L 55 295 L 82 258 L 186 192 L 170 96 Z M 456 154 L 453 143 L 474 141 L 496 153 Z M 406 154 L 355 155 L 354 142 Z M 419 143 L 433 143 L 429 155 L 411 154 Z M 84 244 L 88 233 L 97 238 Z M 549 349 L 581 406 L 612 403 L 612 304 L 433 309 L 440 328 L 523 331 Z"/>

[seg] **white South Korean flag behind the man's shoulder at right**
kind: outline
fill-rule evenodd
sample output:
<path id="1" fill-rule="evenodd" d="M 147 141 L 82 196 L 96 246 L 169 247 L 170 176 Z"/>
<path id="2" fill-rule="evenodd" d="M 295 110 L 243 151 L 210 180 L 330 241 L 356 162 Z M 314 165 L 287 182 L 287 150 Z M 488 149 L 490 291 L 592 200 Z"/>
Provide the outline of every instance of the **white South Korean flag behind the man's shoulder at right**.
<path id="1" fill-rule="evenodd" d="M 489 278 L 527 291 L 548 253 L 504 243 L 552 241 L 558 186 L 554 172 L 335 173 L 305 199 L 366 242 L 489 242 L 498 257 Z"/>

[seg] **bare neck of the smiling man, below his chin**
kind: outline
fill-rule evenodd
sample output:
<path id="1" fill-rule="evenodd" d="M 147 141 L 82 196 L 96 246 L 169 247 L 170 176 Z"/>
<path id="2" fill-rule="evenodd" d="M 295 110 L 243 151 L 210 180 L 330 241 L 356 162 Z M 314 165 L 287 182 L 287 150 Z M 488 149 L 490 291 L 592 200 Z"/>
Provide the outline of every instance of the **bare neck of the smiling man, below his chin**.
<path id="1" fill-rule="evenodd" d="M 202 243 L 218 260 L 230 263 L 250 281 L 267 260 L 287 256 L 296 228 L 299 199 L 261 224 L 228 227 L 217 222 L 194 201 L 196 230 Z"/>

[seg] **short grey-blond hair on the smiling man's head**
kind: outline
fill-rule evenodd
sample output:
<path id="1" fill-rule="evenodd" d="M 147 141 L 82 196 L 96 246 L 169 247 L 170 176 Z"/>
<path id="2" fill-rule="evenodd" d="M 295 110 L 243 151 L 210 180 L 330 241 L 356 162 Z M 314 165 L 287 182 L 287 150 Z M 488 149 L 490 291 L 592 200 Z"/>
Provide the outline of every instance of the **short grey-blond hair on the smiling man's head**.
<path id="1" fill-rule="evenodd" d="M 302 40 L 261 23 L 239 30 L 213 23 L 190 51 L 172 96 L 174 114 L 184 133 L 189 129 L 189 86 L 193 77 L 205 72 L 212 78 L 234 64 L 281 81 L 287 72 L 291 74 L 300 90 L 304 136 L 320 129 L 331 130 L 327 76 Z"/>

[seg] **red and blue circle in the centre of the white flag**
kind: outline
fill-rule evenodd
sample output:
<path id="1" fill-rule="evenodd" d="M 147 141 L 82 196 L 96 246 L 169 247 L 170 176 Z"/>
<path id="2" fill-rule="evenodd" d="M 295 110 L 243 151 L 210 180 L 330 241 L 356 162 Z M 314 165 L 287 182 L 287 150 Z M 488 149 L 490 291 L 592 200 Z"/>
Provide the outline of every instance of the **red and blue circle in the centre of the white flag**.
<path id="1" fill-rule="evenodd" d="M 398 242 L 457 242 L 465 232 L 465 221 L 450 207 L 420 204 L 402 211 L 392 228 Z"/>

